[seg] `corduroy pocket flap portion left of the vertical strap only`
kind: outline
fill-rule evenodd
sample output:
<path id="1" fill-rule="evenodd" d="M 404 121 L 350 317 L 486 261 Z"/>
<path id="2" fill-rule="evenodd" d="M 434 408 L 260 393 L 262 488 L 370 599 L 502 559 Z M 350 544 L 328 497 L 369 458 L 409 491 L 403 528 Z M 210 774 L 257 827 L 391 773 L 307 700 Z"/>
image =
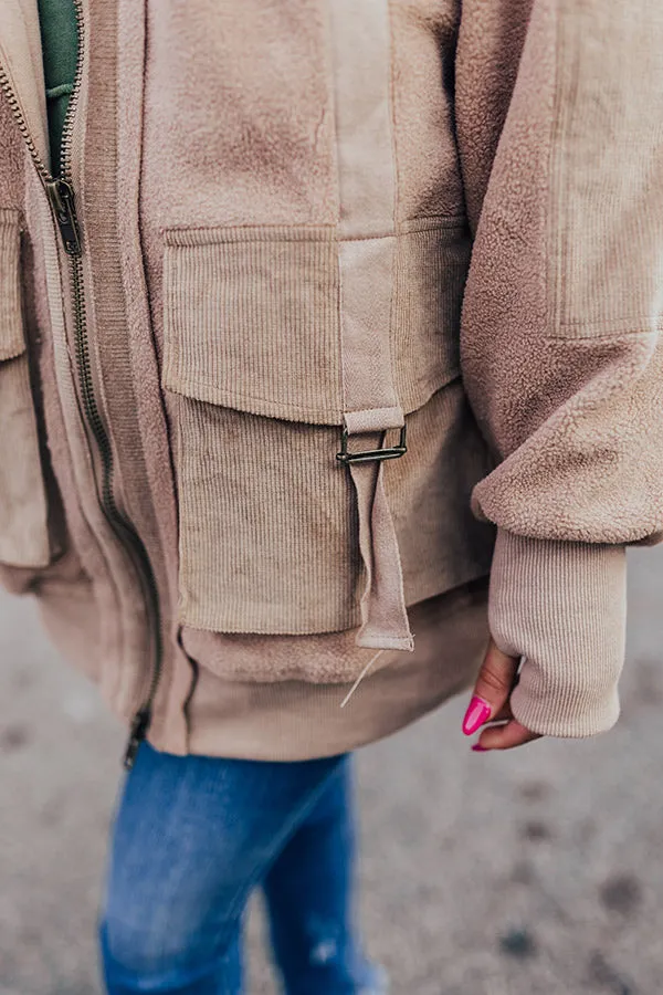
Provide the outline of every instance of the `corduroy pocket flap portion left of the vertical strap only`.
<path id="1" fill-rule="evenodd" d="M 340 425 L 332 228 L 166 233 L 164 386 L 213 405 Z"/>

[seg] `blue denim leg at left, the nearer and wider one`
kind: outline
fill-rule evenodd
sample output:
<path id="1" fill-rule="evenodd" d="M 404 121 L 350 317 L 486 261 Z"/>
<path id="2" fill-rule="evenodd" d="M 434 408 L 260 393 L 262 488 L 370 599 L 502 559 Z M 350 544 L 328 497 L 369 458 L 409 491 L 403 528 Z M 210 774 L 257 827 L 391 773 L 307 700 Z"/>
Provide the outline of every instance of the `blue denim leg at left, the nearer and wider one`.
<path id="1" fill-rule="evenodd" d="M 101 923 L 109 995 L 241 995 L 251 891 L 341 765 L 178 757 L 144 744 L 109 855 Z"/>

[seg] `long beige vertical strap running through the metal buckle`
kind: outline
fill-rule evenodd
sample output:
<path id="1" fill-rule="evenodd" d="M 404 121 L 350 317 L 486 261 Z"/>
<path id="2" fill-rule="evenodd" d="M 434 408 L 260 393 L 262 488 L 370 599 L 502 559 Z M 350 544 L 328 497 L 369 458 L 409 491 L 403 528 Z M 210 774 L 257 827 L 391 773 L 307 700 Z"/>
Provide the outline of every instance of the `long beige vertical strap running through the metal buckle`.
<path id="1" fill-rule="evenodd" d="M 396 160 L 388 0 L 328 4 L 338 158 L 344 427 L 351 437 L 403 425 L 391 358 Z M 382 446 L 385 439 L 381 439 Z M 346 439 L 344 439 L 344 443 Z M 355 446 L 360 444 L 355 440 Z M 383 459 L 348 462 L 366 565 L 357 645 L 412 650 Z"/>

